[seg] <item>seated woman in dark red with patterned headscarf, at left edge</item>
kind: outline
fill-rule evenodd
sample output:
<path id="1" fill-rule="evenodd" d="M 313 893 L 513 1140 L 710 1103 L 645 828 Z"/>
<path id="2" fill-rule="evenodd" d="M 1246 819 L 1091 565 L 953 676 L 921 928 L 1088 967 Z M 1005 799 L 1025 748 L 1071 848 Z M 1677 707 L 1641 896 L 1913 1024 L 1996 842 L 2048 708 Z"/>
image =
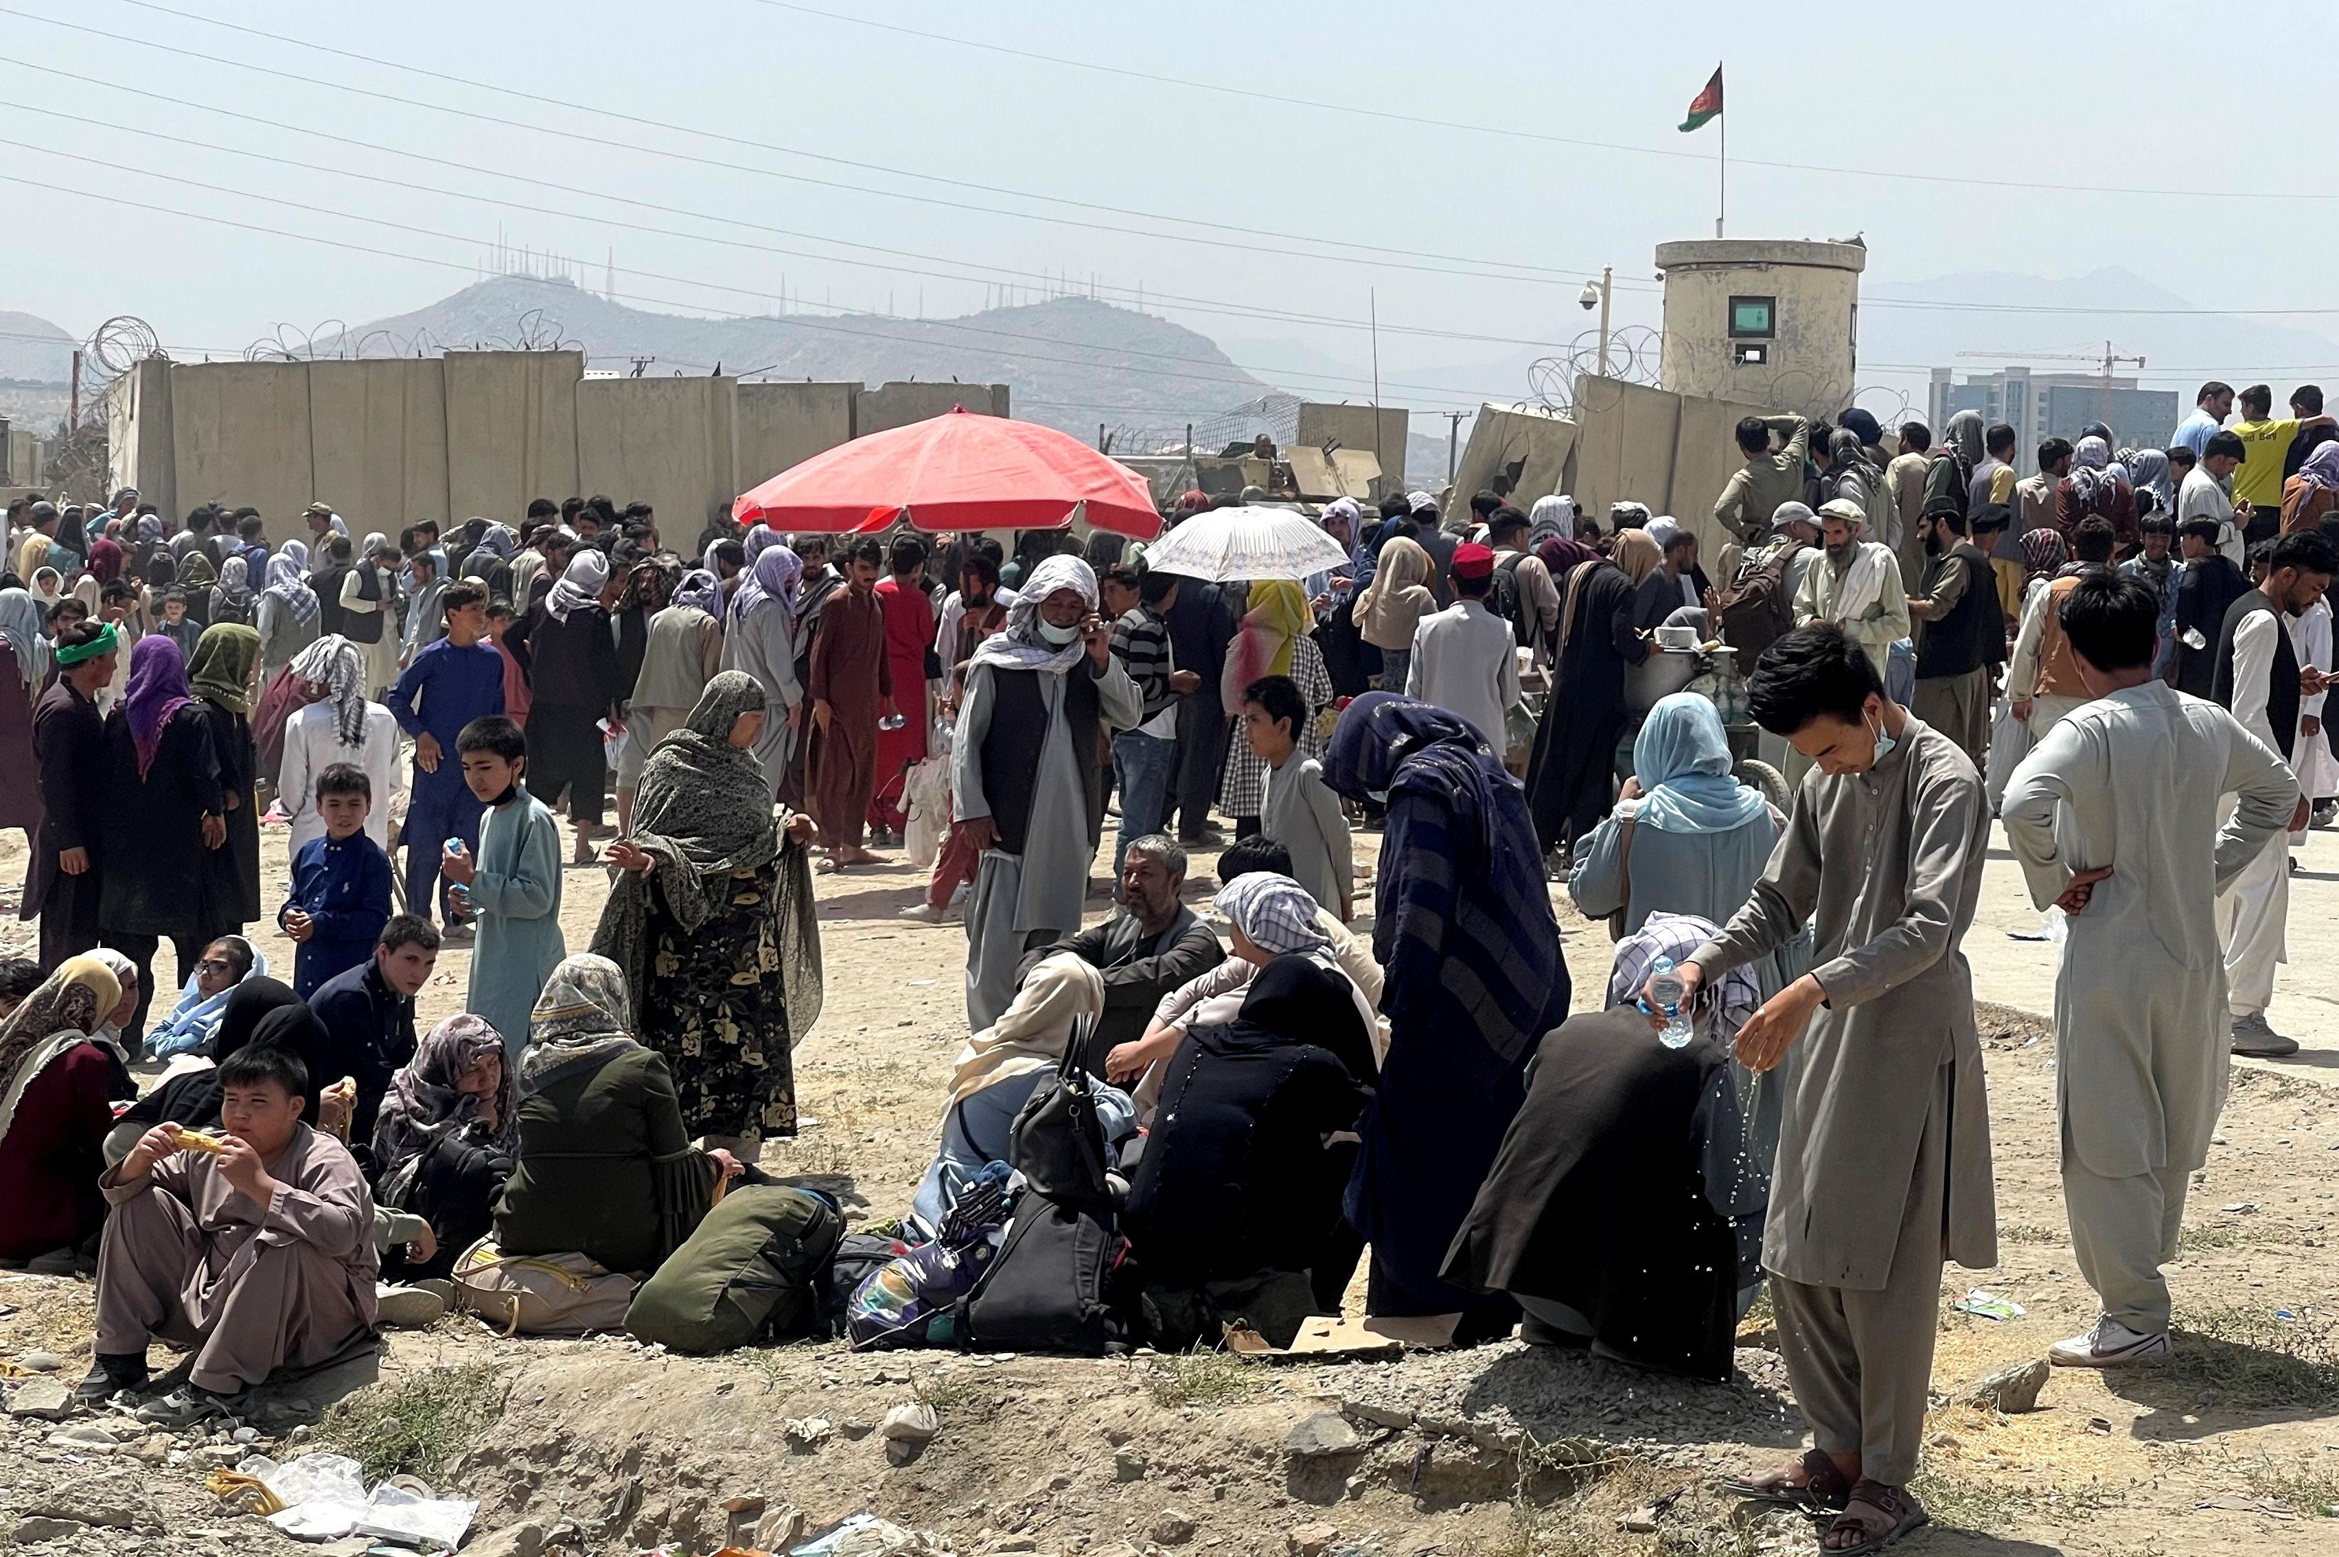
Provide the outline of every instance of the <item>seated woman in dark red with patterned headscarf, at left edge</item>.
<path id="1" fill-rule="evenodd" d="M 101 1029 L 119 998 L 105 963 L 75 956 L 0 1024 L 0 1260 L 61 1253 L 70 1269 L 105 1225 L 98 1178 L 126 1057 Z"/>

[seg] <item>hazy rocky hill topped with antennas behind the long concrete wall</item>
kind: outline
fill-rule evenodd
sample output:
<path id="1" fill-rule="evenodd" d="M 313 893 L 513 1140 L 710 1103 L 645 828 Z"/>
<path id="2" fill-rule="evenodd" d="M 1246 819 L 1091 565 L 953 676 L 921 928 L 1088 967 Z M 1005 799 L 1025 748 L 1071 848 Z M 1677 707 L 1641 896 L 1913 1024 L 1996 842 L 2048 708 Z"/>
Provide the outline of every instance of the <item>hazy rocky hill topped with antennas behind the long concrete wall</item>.
<path id="1" fill-rule="evenodd" d="M 870 313 L 692 318 L 610 302 L 571 281 L 498 276 L 428 309 L 356 325 L 360 355 L 461 346 L 573 346 L 594 369 L 767 379 L 959 379 L 1013 386 L 1017 416 L 1095 437 L 1097 423 L 1158 428 L 1256 400 L 1268 386 L 1209 337 L 1088 297 L 950 320 Z M 318 341 L 339 351 L 341 339 Z"/>

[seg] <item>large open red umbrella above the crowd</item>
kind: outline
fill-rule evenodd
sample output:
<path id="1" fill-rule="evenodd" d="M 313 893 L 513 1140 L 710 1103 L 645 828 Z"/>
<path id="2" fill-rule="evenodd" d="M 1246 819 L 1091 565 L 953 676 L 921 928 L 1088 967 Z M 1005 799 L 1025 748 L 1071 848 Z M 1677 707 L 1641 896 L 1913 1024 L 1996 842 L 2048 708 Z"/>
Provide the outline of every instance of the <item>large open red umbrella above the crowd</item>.
<path id="1" fill-rule="evenodd" d="M 1053 531 L 1078 505 L 1099 531 L 1151 540 L 1153 491 L 1081 440 L 1006 416 L 947 416 L 870 432 L 732 503 L 739 524 L 774 531 L 882 531 L 908 510 L 922 531 Z"/>

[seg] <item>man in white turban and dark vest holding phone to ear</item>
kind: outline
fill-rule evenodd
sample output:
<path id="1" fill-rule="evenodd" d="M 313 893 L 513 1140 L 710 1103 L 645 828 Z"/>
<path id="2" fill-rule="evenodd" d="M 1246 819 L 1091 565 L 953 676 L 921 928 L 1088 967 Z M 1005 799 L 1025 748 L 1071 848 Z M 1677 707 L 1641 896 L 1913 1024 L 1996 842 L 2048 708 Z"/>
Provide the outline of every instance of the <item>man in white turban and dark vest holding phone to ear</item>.
<path id="1" fill-rule="evenodd" d="M 1097 575 L 1078 556 L 1050 556 L 966 669 L 950 790 L 952 825 L 982 851 L 966 909 L 971 1031 L 1015 998 L 1024 952 L 1081 928 L 1104 816 L 1097 736 L 1144 718 L 1111 648 Z"/>

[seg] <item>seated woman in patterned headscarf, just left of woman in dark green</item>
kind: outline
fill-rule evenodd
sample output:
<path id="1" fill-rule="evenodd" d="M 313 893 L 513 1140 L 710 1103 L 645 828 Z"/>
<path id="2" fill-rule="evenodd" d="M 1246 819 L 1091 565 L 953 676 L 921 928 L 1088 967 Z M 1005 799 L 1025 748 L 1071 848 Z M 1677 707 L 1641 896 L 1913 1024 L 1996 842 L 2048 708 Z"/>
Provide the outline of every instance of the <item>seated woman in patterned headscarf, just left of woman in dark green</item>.
<path id="1" fill-rule="evenodd" d="M 391 1075 L 374 1115 L 374 1202 L 430 1223 L 428 1260 L 386 1260 L 386 1281 L 444 1276 L 487 1237 L 519 1155 L 519 1089 L 484 1017 L 447 1017 Z"/>

